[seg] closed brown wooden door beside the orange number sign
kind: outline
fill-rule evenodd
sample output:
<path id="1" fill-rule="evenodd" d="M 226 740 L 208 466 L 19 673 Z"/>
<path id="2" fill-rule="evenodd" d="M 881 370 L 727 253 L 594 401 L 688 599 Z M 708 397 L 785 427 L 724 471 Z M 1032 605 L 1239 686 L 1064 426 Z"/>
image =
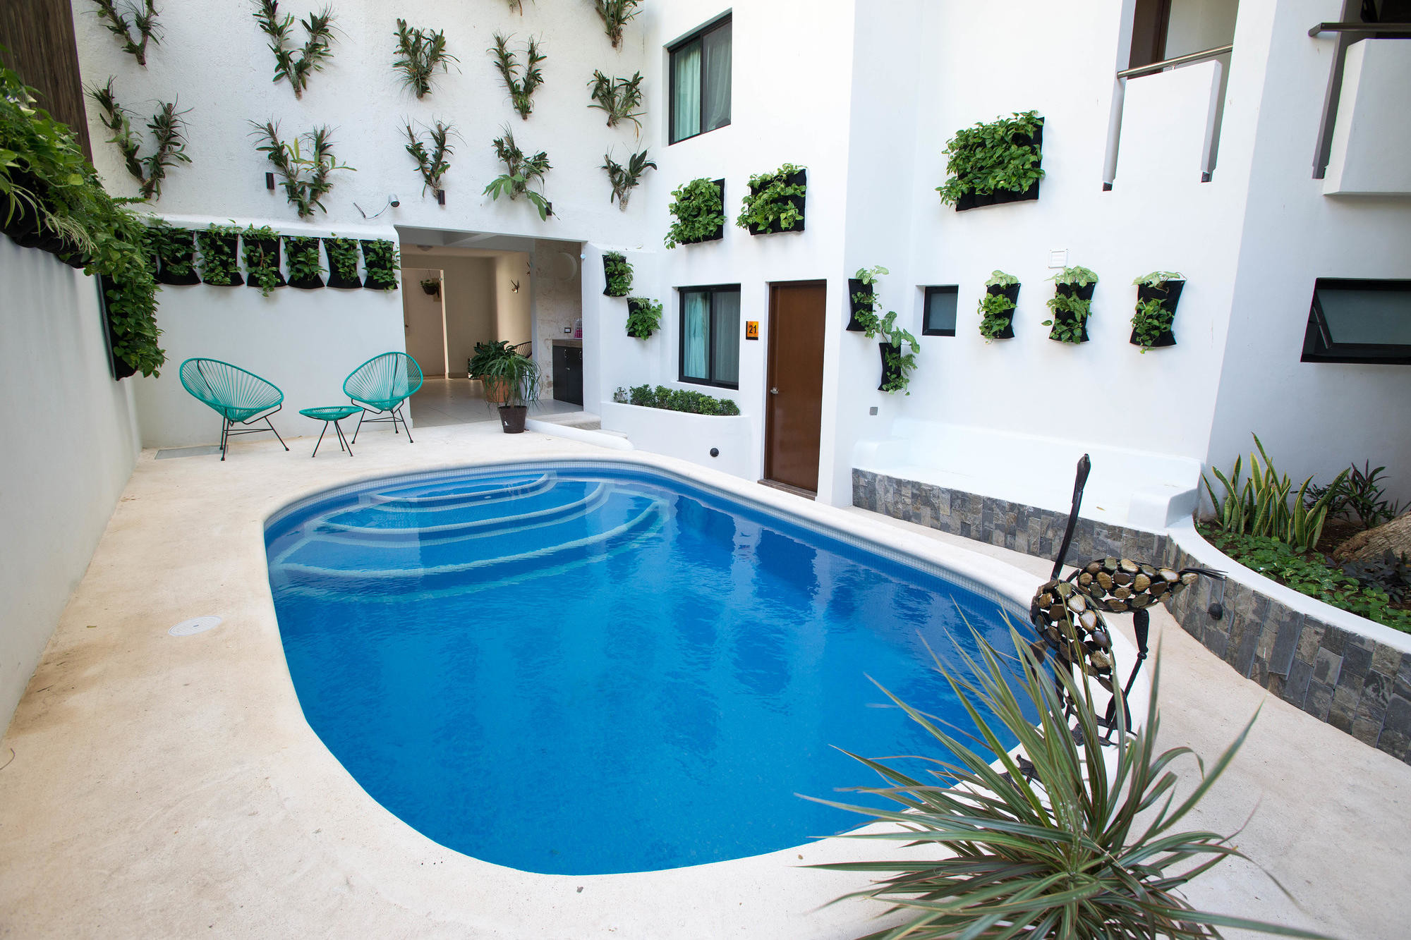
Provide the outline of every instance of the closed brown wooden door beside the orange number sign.
<path id="1" fill-rule="evenodd" d="M 823 281 L 769 285 L 765 478 L 809 493 L 818 491 L 825 322 Z"/>

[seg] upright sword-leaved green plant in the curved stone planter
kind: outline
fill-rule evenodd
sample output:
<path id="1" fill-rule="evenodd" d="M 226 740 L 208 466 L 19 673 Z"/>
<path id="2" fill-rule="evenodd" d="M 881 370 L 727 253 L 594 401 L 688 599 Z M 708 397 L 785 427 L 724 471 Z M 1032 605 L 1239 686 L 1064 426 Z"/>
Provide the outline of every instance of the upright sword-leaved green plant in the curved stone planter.
<path id="1" fill-rule="evenodd" d="M 1201 481 L 1205 484 L 1205 491 L 1215 510 L 1215 526 L 1230 535 L 1257 535 L 1277 539 L 1300 555 L 1312 552 L 1322 536 L 1322 526 L 1333 497 L 1332 490 L 1342 484 L 1348 471 L 1339 473 L 1329 490 L 1315 498 L 1309 498 L 1314 478 L 1308 477 L 1298 487 L 1294 500 L 1290 501 L 1292 481 L 1287 473 L 1278 476 L 1274 470 L 1274 462 L 1268 459 L 1264 445 L 1259 440 L 1259 435 L 1253 435 L 1253 438 L 1259 454 L 1249 454 L 1250 473 L 1247 480 L 1240 481 L 1240 457 L 1235 457 L 1235 467 L 1228 477 L 1221 473 L 1219 467 L 1211 467 L 1211 473 L 1225 488 L 1223 497 L 1216 495 L 1215 487 L 1211 486 L 1204 473 L 1201 474 Z"/>

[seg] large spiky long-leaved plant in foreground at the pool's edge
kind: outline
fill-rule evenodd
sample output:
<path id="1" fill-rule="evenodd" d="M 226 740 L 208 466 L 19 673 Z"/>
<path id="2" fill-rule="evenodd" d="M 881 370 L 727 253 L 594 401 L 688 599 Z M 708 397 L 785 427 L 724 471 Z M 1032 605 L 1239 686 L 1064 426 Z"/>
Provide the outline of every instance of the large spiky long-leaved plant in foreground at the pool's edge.
<path id="1" fill-rule="evenodd" d="M 844 838 L 896 841 L 934 852 L 930 858 L 910 851 L 904 860 L 813 865 L 878 875 L 872 888 L 847 896 L 886 900 L 893 912 L 907 912 L 904 924 L 869 934 L 869 940 L 1194 940 L 1219 937 L 1218 927 L 1321 937 L 1195 910 L 1180 893 L 1226 858 L 1247 858 L 1232 837 L 1175 827 L 1229 766 L 1254 718 L 1208 771 L 1195 757 L 1201 781 L 1178 800 L 1170 766 L 1194 752 L 1184 747 L 1156 749 L 1160 656 L 1151 670 L 1146 724 L 1139 731 L 1127 728 L 1119 697 L 1116 745 L 1108 754 L 1103 747 L 1075 744 L 1054 675 L 1017 632 L 1010 632 L 1020 656 L 1017 677 L 1009 677 L 1013 673 L 983 639 L 981 662 L 961 653 L 964 662 L 955 670 L 933 653 L 976 727 L 974 747 L 879 685 L 948 755 L 930 758 L 933 766 L 923 779 L 851 755 L 888 782 L 852 789 L 892 800 L 899 805 L 895 810 L 817 800 L 890 824 L 888 831 Z M 967 673 L 974 677 L 964 677 Z M 1057 682 L 1082 740 L 1099 741 L 1103 728 L 1089 685 L 1064 670 L 1057 672 Z M 1007 752 L 1005 738 L 1019 741 L 1031 769 Z"/>

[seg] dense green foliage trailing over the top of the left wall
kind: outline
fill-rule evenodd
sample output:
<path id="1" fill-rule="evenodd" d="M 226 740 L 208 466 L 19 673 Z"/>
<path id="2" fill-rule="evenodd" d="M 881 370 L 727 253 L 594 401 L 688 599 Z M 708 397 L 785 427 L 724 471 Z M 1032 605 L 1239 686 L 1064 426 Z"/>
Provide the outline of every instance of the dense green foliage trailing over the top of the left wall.
<path id="1" fill-rule="evenodd" d="M 157 292 L 147 226 L 103 189 L 73 131 L 35 107 L 34 89 L 0 68 L 0 205 L 6 230 L 56 243 L 56 254 L 102 275 L 113 354 L 157 375 Z"/>

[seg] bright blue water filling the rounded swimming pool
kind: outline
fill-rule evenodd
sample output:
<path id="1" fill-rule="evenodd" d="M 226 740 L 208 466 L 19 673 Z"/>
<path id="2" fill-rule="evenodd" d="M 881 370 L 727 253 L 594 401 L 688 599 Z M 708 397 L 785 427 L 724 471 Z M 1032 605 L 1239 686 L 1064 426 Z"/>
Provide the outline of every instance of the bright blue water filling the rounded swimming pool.
<path id="1" fill-rule="evenodd" d="M 425 836 L 535 872 L 852 828 L 796 796 L 878 783 L 835 748 L 944 757 L 868 676 L 969 727 L 923 639 L 951 662 L 971 627 L 1010 646 L 993 600 L 636 470 L 381 480 L 277 515 L 267 549 L 334 757 Z"/>

